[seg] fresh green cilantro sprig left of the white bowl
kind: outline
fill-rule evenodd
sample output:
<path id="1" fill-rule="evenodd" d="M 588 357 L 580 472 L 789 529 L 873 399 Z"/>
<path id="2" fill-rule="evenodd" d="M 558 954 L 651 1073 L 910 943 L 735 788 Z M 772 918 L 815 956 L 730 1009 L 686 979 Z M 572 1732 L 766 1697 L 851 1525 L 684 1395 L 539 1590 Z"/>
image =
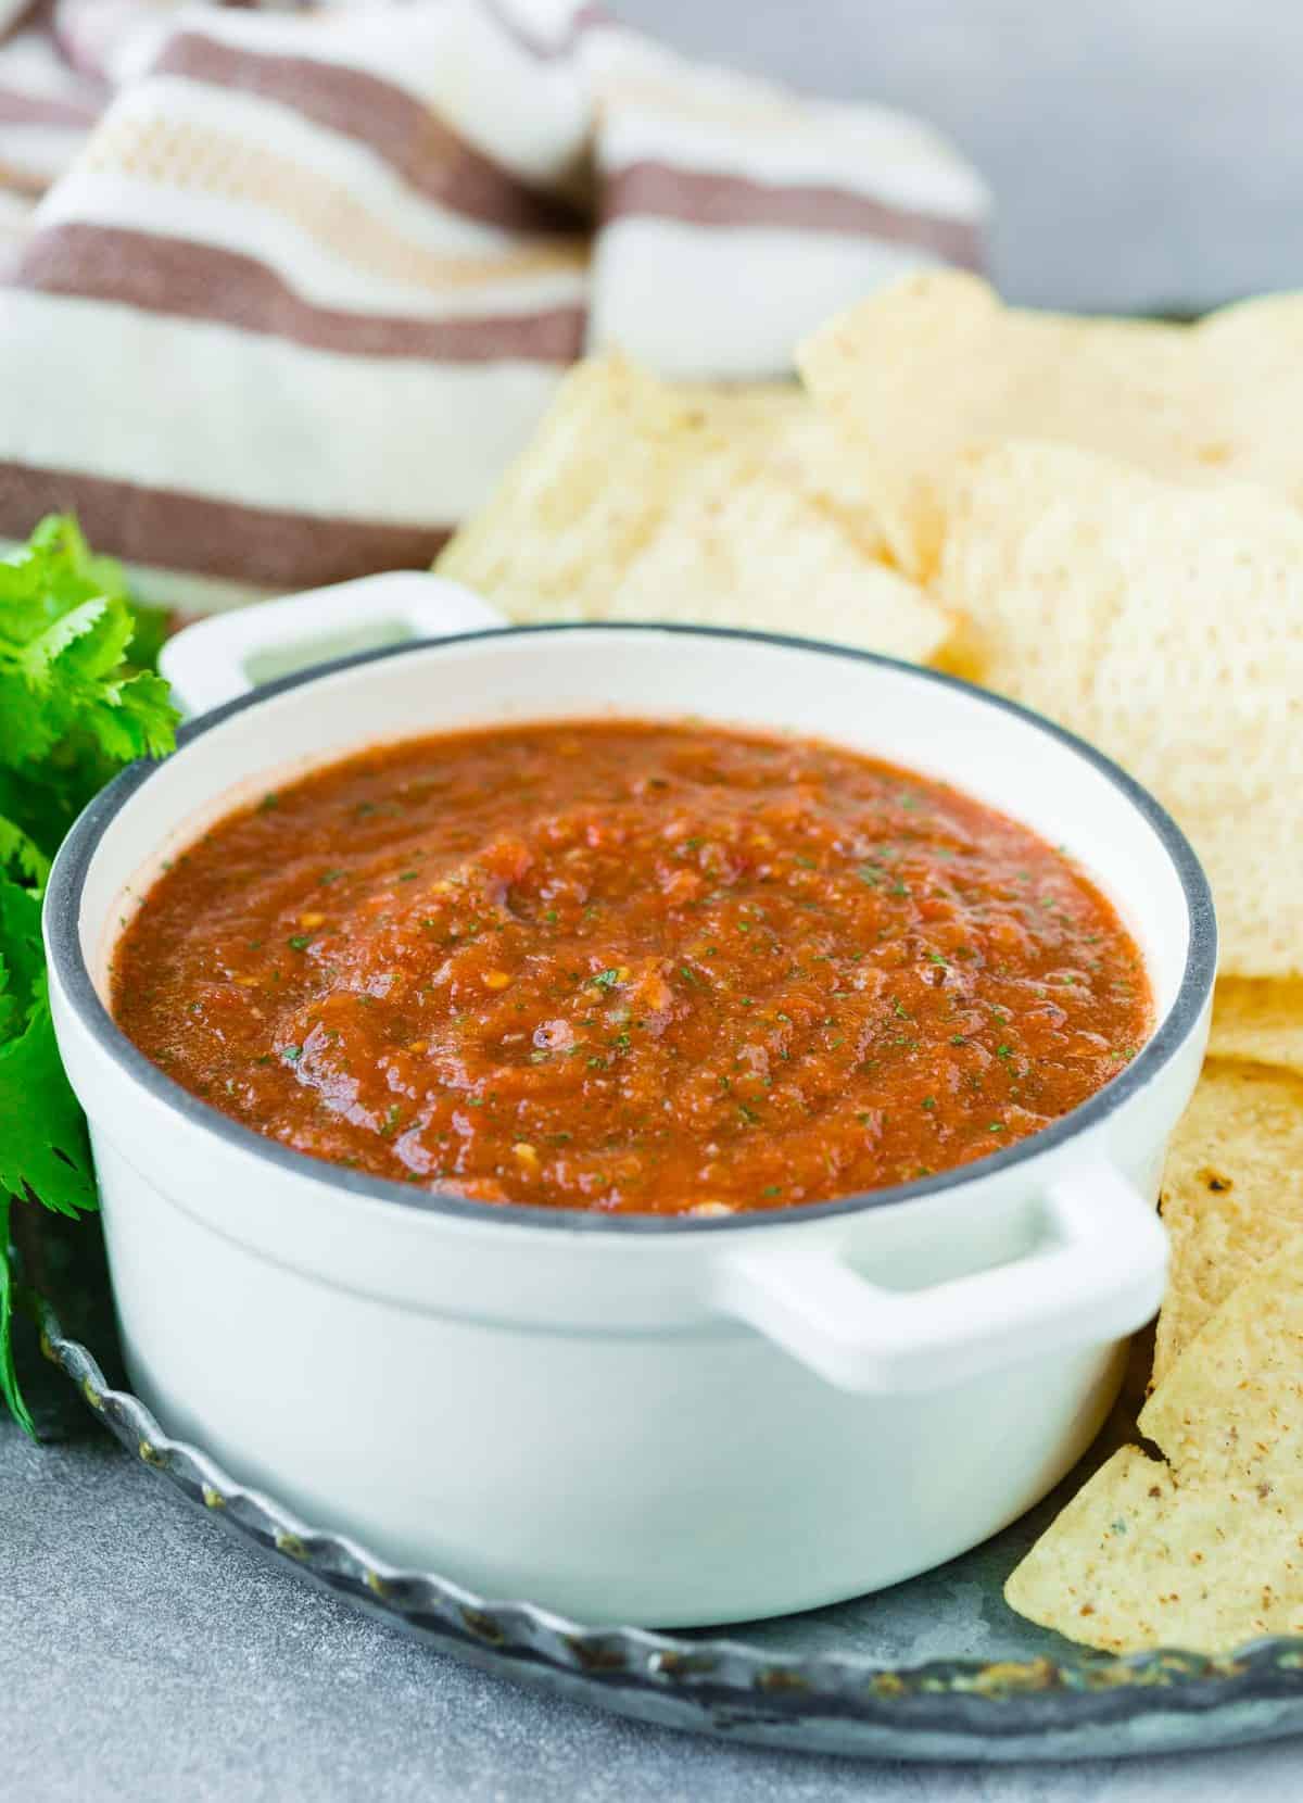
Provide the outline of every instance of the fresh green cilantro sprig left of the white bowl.
<path id="1" fill-rule="evenodd" d="M 175 743 L 177 710 L 150 665 L 162 615 L 74 519 L 43 519 L 0 557 L 0 1397 L 27 1432 L 11 1327 L 14 1206 L 96 1206 L 87 1125 L 54 1044 L 41 948 L 50 860 L 90 797 Z"/>

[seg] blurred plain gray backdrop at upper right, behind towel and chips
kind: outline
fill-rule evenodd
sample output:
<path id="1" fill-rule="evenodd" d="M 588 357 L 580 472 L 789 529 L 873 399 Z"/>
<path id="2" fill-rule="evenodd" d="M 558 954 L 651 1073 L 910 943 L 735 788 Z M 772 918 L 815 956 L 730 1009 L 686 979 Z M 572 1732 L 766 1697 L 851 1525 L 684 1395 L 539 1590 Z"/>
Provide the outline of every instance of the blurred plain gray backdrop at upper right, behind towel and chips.
<path id="1" fill-rule="evenodd" d="M 699 56 L 916 108 L 995 191 L 1009 297 L 1206 308 L 1303 281 L 1298 0 L 613 0 Z"/>

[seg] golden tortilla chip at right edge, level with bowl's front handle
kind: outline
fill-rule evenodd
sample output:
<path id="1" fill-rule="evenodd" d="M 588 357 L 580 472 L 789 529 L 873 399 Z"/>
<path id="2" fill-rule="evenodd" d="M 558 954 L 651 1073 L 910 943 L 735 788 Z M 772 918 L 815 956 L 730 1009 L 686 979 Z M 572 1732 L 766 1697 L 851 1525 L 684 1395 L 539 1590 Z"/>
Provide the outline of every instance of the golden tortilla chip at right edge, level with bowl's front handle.
<path id="1" fill-rule="evenodd" d="M 1209 1062 L 1168 1149 L 1171 1240 L 1153 1383 L 1258 1266 L 1303 1233 L 1303 1078 Z"/>

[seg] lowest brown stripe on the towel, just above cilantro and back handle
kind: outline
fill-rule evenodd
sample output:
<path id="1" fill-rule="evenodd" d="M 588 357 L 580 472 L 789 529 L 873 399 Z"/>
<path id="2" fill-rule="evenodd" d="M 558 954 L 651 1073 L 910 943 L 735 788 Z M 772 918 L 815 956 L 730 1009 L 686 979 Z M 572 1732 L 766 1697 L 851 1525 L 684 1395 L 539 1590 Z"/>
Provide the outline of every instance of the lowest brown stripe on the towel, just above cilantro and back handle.
<path id="1" fill-rule="evenodd" d="M 54 508 L 76 514 L 97 550 L 128 563 L 272 590 L 422 570 L 449 539 L 449 530 L 436 526 L 323 519 L 0 462 L 0 537 L 25 539 Z"/>

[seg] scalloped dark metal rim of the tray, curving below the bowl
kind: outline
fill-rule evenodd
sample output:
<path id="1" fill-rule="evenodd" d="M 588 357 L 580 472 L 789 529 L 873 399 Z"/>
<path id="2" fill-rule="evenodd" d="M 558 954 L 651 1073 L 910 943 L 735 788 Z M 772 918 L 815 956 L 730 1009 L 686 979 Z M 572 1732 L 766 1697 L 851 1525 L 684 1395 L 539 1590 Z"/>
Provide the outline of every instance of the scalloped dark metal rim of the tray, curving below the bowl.
<path id="1" fill-rule="evenodd" d="M 41 1350 L 144 1466 L 241 1540 L 438 1652 L 636 1720 L 757 1745 L 894 1760 L 1080 1760 L 1242 1745 L 1303 1733 L 1303 1639 L 1218 1659 L 1179 1650 L 1116 1659 L 892 1668 L 863 1655 L 780 1657 L 743 1639 L 591 1628 L 398 1570 L 308 1527 L 207 1453 L 164 1433 L 94 1354 L 41 1313 Z"/>

